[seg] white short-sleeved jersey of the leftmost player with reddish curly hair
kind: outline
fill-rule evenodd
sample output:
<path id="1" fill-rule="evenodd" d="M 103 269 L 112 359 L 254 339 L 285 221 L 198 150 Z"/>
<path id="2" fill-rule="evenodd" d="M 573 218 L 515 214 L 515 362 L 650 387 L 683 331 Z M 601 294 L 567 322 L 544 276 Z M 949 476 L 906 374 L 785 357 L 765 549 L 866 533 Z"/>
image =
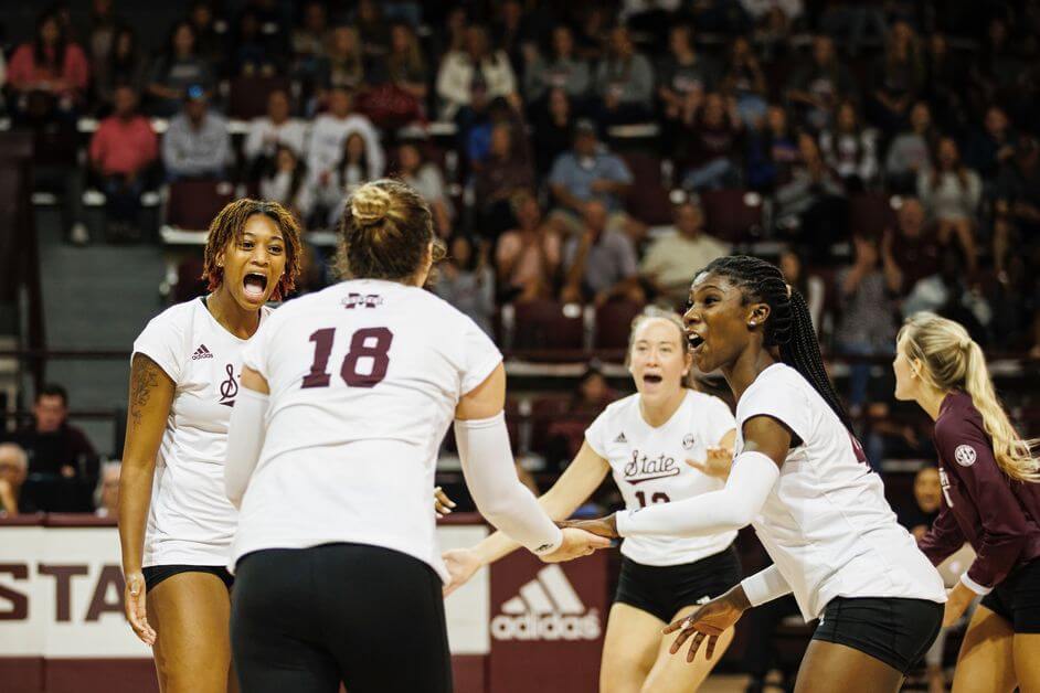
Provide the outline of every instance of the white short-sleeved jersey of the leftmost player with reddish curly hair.
<path id="1" fill-rule="evenodd" d="M 261 324 L 269 314 L 262 309 Z M 134 341 L 134 353 L 177 387 L 156 458 L 144 566 L 227 563 L 237 513 L 224 494 L 224 459 L 245 344 L 201 298 L 162 311 Z"/>

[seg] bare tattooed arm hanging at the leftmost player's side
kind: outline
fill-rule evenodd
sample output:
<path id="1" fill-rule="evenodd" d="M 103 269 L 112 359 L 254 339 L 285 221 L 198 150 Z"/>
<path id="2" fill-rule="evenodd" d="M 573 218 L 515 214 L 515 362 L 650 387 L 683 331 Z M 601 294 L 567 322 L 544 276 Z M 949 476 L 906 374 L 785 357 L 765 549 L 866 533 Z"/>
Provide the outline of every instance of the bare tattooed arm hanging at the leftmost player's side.
<path id="1" fill-rule="evenodd" d="M 167 373 L 142 353 L 130 364 L 129 406 L 123 471 L 119 476 L 119 543 L 126 580 L 126 615 L 134 632 L 147 644 L 156 641 L 145 611 L 145 577 L 141 554 L 145 523 L 151 502 L 156 455 L 162 441 L 176 385 Z"/>

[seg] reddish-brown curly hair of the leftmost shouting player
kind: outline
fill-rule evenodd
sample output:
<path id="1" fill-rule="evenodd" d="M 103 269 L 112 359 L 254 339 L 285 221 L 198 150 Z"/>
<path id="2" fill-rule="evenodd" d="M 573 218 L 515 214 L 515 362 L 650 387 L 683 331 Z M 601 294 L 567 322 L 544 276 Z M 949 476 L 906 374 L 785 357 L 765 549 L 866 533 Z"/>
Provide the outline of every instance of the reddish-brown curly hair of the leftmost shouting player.
<path id="1" fill-rule="evenodd" d="M 202 278 L 209 285 L 206 290 L 214 291 L 224 278 L 224 268 L 219 267 L 216 258 L 221 250 L 234 243 L 242 235 L 246 222 L 254 214 L 263 214 L 278 225 L 282 237 L 285 239 L 286 258 L 285 274 L 278 279 L 278 286 L 270 295 L 270 300 L 279 301 L 288 296 L 296 286 L 296 277 L 300 273 L 300 231 L 296 217 L 277 202 L 253 200 L 243 198 L 224 206 L 210 224 L 210 237 L 205 244 Z"/>

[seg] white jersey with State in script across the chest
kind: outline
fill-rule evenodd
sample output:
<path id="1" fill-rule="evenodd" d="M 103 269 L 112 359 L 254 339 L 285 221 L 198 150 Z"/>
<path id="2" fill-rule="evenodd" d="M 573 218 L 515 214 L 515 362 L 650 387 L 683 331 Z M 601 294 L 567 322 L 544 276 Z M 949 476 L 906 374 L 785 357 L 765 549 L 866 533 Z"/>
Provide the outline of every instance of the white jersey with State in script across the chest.
<path id="1" fill-rule="evenodd" d="M 611 462 L 614 482 L 629 510 L 652 503 L 681 501 L 725 486 L 690 467 L 686 460 L 703 462 L 736 428 L 730 407 L 718 397 L 687 391 L 686 398 L 661 426 L 654 428 L 639 412 L 639 395 L 619 399 L 603 411 L 585 431 L 588 446 Z M 736 532 L 710 536 L 632 536 L 622 553 L 643 565 L 682 565 L 723 551 Z"/>

